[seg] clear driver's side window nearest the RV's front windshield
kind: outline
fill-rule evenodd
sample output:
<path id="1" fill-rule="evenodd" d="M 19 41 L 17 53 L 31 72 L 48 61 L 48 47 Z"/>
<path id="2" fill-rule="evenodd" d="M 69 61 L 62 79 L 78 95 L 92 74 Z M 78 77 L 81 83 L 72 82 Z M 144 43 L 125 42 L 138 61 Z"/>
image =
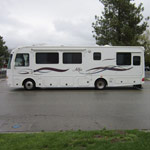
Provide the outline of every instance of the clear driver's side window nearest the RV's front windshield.
<path id="1" fill-rule="evenodd" d="M 16 67 L 27 67 L 29 66 L 29 54 L 17 54 L 15 59 Z"/>

